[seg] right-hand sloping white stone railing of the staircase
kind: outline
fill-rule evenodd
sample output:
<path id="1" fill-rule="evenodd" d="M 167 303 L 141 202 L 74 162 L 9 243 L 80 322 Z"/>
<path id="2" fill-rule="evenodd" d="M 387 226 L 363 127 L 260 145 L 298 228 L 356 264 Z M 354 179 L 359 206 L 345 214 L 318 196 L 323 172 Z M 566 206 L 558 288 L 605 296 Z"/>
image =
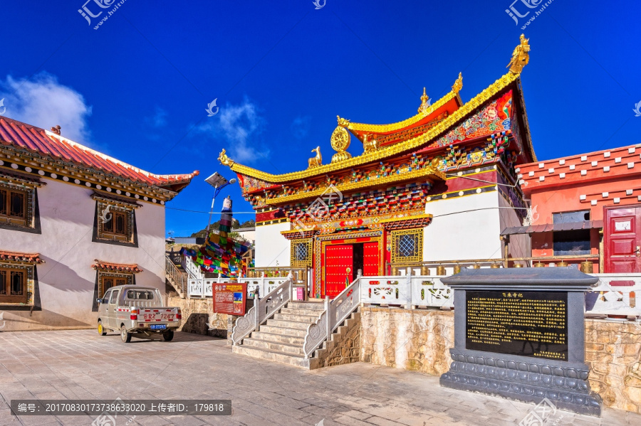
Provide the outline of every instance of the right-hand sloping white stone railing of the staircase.
<path id="1" fill-rule="evenodd" d="M 305 358 L 309 358 L 318 346 L 323 344 L 323 341 L 329 340 L 338 325 L 358 308 L 360 304 L 361 279 L 362 276 L 359 270 L 358 277 L 333 300 L 330 301 L 329 297 L 325 297 L 325 309 L 320 313 L 318 319 L 307 327 L 305 341 L 303 341 Z M 345 304 L 348 303 L 349 306 L 345 308 L 347 306 Z"/>

